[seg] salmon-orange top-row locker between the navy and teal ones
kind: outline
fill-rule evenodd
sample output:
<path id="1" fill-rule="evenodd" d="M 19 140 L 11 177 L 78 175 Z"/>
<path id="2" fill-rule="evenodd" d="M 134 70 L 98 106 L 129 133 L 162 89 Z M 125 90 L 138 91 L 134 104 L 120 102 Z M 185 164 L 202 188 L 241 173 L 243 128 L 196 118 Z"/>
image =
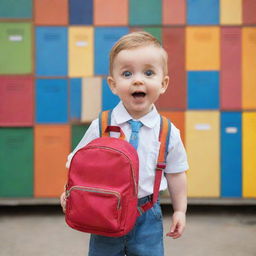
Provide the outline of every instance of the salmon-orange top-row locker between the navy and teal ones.
<path id="1" fill-rule="evenodd" d="M 95 26 L 127 26 L 128 0 L 94 0 Z"/>

